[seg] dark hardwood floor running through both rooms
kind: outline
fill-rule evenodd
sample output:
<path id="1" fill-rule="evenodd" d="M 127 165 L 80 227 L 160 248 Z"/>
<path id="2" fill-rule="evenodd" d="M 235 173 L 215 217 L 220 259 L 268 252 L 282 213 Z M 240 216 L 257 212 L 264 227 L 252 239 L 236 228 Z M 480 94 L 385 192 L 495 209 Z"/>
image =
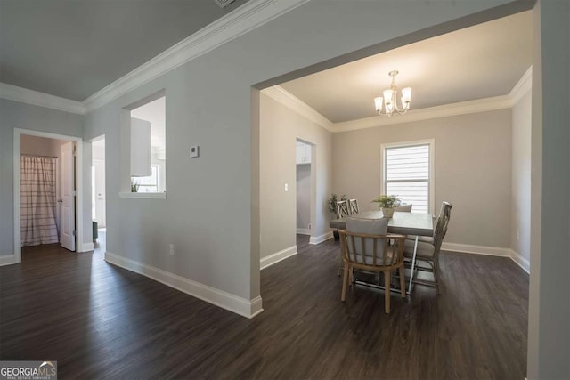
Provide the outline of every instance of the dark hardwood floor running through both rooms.
<path id="1" fill-rule="evenodd" d="M 103 249 L 25 248 L 0 267 L 0 358 L 57 360 L 67 378 L 523 379 L 528 275 L 504 257 L 444 253 L 442 295 L 356 287 L 338 243 L 298 237 L 261 275 L 245 319 L 105 263 Z"/>

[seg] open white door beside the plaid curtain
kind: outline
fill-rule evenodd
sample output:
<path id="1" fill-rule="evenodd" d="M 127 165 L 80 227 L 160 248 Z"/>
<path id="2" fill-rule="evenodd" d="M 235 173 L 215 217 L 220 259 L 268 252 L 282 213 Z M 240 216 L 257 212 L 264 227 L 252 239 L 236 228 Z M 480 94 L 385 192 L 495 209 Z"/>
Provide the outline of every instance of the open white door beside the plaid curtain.
<path id="1" fill-rule="evenodd" d="M 61 247 L 75 251 L 75 165 L 73 141 L 61 145 Z"/>

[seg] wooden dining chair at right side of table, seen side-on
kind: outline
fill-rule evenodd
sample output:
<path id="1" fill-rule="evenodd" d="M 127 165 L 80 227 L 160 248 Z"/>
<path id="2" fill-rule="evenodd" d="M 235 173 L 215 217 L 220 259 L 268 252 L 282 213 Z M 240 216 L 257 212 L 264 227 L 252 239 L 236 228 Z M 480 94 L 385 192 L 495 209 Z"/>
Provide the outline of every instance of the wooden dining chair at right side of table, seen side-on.
<path id="1" fill-rule="evenodd" d="M 418 279 L 414 276 L 411 281 L 414 284 L 427 285 L 429 287 L 436 287 L 437 294 L 440 294 L 440 281 L 439 281 L 439 252 L 444 241 L 445 234 L 447 233 L 447 226 L 452 212 L 452 204 L 443 202 L 437 217 L 436 228 L 434 235 L 430 237 L 420 237 L 418 240 L 418 247 L 416 249 L 416 262 L 427 263 L 428 266 L 416 265 L 417 271 L 428 271 L 433 273 L 433 280 Z M 413 259 L 414 240 L 406 239 L 404 247 L 404 256 L 406 261 L 410 262 Z"/>

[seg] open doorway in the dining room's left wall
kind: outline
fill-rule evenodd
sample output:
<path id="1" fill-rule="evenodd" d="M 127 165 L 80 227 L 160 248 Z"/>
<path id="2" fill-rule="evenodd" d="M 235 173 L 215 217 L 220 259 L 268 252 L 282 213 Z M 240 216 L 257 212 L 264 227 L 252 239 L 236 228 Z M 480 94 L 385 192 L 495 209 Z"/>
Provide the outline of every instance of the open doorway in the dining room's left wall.
<path id="1" fill-rule="evenodd" d="M 297 235 L 311 235 L 311 155 L 310 143 L 297 139 Z"/>

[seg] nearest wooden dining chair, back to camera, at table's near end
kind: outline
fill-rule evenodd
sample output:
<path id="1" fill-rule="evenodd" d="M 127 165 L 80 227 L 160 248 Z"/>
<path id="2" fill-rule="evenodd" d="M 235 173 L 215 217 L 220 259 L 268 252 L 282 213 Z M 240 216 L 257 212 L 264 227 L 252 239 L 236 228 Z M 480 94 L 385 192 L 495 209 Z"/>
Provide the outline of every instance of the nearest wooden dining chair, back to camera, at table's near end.
<path id="1" fill-rule="evenodd" d="M 340 230 L 342 258 L 345 273 L 340 300 L 346 300 L 346 285 L 353 283 L 353 271 L 384 273 L 384 312 L 390 312 L 391 271 L 400 271 L 402 298 L 406 297 L 403 267 L 405 235 L 387 233 L 388 219 L 346 219 L 346 230 Z M 395 241 L 389 246 L 388 240 Z"/>

